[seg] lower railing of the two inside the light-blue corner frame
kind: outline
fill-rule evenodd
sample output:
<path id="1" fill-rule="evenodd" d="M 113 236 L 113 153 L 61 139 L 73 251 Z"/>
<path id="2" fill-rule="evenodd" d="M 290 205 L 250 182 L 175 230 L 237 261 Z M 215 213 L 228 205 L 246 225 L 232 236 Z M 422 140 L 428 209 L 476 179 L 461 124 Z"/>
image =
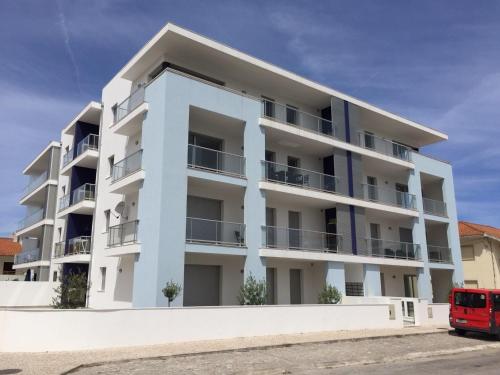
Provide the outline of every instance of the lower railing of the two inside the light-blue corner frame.
<path id="1" fill-rule="evenodd" d="M 186 241 L 224 246 L 245 246 L 245 224 L 186 218 Z"/>

